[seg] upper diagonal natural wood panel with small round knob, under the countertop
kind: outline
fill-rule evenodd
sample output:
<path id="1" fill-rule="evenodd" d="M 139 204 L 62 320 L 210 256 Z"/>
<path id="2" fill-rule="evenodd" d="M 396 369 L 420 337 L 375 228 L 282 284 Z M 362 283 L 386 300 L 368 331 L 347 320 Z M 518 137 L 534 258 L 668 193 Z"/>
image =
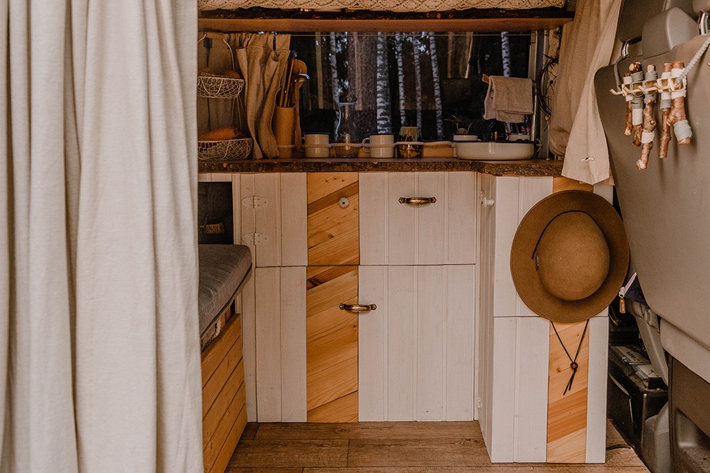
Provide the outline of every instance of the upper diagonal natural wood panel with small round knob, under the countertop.
<path id="1" fill-rule="evenodd" d="M 308 173 L 308 264 L 359 263 L 357 173 Z M 349 202 L 339 205 L 342 198 Z"/>

